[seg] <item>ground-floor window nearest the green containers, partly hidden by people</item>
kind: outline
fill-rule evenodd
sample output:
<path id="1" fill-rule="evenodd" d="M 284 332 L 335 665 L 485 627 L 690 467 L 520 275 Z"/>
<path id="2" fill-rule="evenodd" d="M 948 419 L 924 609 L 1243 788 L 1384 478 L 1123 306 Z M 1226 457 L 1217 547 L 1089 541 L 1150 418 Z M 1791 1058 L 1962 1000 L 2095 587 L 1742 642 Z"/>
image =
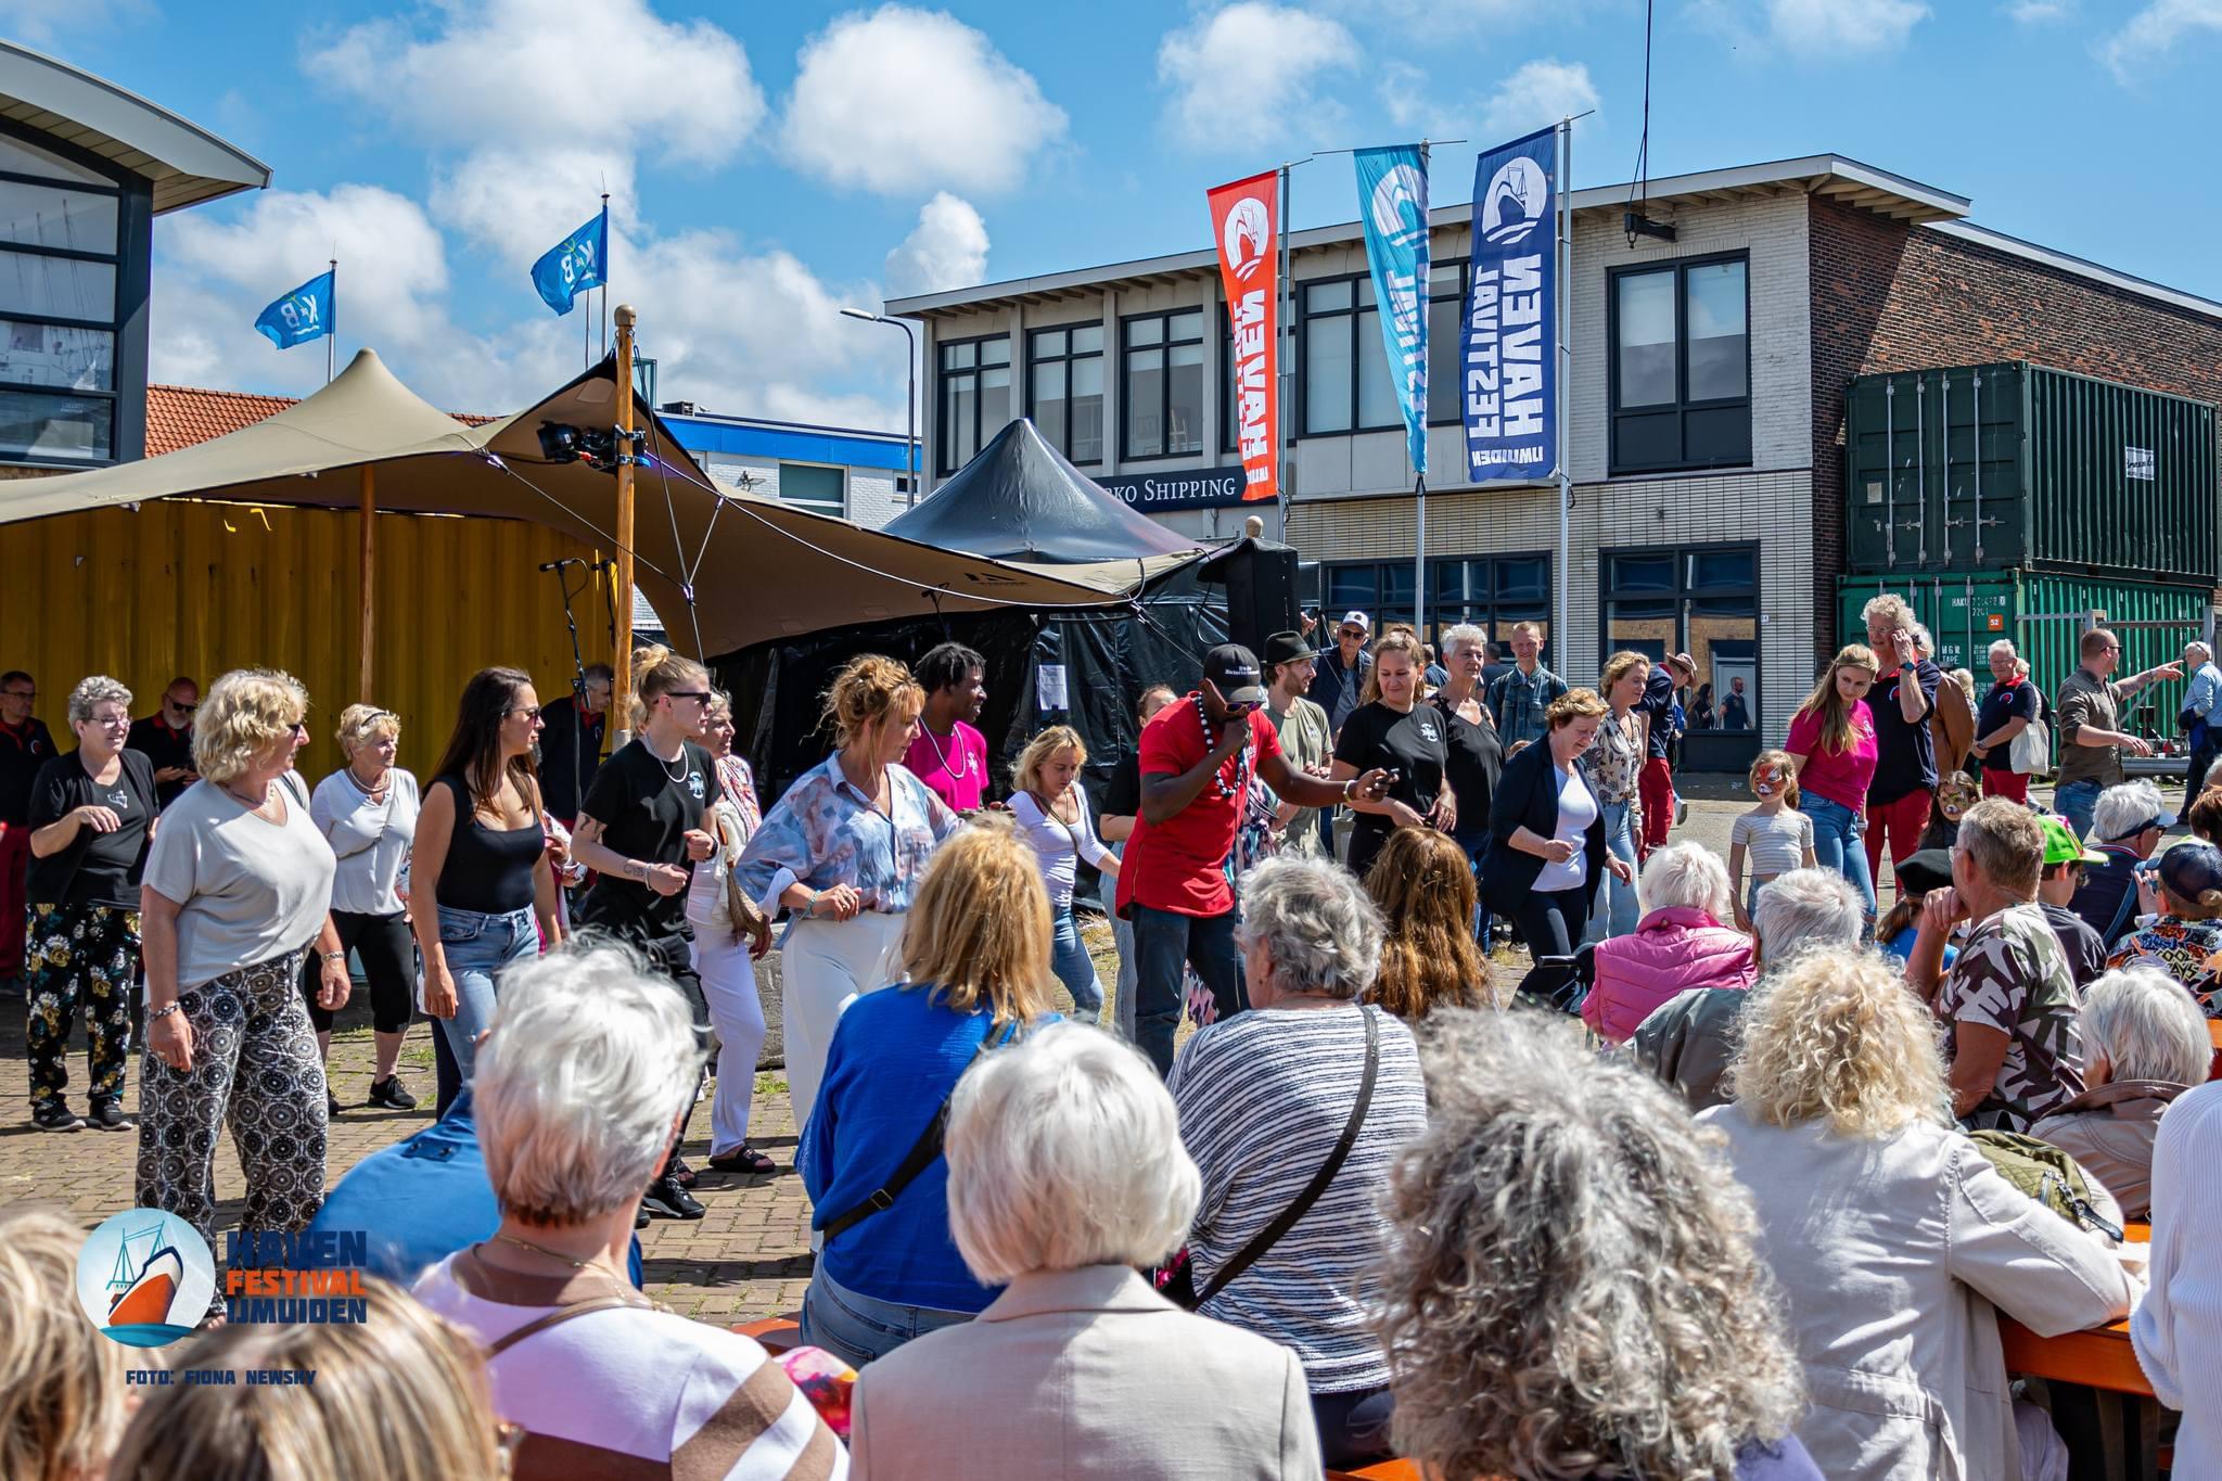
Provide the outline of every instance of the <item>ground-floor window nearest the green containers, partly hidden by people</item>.
<path id="1" fill-rule="evenodd" d="M 1604 551 L 1600 597 L 1598 662 L 1622 648 L 1653 659 L 1689 653 L 1698 662 L 1695 686 L 1682 699 L 1684 764 L 1735 768 L 1758 755 L 1758 546 Z"/>

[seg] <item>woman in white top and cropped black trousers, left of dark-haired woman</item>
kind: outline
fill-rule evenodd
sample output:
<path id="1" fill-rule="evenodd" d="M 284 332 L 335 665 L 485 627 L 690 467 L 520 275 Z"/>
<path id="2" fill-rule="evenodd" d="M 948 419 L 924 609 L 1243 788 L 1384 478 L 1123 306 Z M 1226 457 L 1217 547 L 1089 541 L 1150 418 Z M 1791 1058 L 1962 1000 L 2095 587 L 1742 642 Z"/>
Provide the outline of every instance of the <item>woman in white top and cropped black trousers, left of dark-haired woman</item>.
<path id="1" fill-rule="evenodd" d="M 396 1068 L 402 1039 L 409 1035 L 409 1010 L 416 986 L 416 941 L 409 935 L 409 906 L 400 897 L 402 870 L 409 866 L 409 844 L 416 839 L 418 784 L 393 764 L 400 750 L 402 722 L 376 704 L 349 704 L 340 713 L 340 755 L 347 764 L 316 784 L 309 817 L 338 857 L 331 877 L 331 924 L 340 930 L 340 950 L 362 961 L 371 984 L 371 1028 L 378 1032 L 378 1072 L 371 1077 L 369 1106 L 416 1110 L 416 1097 L 402 1086 Z M 331 1064 L 331 1012 L 318 1006 L 322 961 L 309 961 L 302 993 L 309 997 L 309 1019 L 316 1024 L 316 1048 Z M 324 1079 L 327 1115 L 340 1115 L 340 1097 Z"/>

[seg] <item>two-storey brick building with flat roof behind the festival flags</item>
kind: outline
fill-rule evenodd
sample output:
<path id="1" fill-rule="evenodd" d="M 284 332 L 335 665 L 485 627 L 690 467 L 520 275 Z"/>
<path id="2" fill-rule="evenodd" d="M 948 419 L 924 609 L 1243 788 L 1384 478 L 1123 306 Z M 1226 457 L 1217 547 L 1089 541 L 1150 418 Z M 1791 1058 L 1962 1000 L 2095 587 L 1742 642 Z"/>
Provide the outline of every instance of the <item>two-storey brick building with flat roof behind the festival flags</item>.
<path id="1" fill-rule="evenodd" d="M 1500 637 L 1564 597 L 1547 662 L 1575 682 L 1615 648 L 1691 651 L 1720 695 L 1742 684 L 1753 726 L 1693 735 L 1689 766 L 1780 737 L 1838 642 L 1853 375 L 2026 357 L 2222 400 L 2222 304 L 1986 231 L 1964 198 L 1858 160 L 1653 180 L 1642 204 L 1671 242 L 1624 233 L 1629 187 L 1573 195 L 1564 562 L 1555 486 L 1460 482 L 1469 206 L 1433 213 L 1424 624 Z M 1291 233 L 1291 275 L 1284 535 L 1329 615 L 1409 622 L 1415 502 L 1358 224 Z M 924 326 L 929 491 L 1013 415 L 1129 497 L 1238 462 L 1209 249 L 887 311 Z M 1211 537 L 1244 513 L 1162 517 Z"/>

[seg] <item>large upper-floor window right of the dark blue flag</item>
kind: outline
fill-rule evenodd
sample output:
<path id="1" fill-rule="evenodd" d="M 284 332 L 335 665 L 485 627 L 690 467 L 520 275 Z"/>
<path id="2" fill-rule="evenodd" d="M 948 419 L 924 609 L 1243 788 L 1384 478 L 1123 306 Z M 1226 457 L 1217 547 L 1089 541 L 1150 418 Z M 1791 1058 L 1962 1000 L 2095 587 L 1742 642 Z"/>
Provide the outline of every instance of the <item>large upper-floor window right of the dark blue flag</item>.
<path id="1" fill-rule="evenodd" d="M 1611 273 L 1613 473 L 1751 462 L 1749 260 Z"/>

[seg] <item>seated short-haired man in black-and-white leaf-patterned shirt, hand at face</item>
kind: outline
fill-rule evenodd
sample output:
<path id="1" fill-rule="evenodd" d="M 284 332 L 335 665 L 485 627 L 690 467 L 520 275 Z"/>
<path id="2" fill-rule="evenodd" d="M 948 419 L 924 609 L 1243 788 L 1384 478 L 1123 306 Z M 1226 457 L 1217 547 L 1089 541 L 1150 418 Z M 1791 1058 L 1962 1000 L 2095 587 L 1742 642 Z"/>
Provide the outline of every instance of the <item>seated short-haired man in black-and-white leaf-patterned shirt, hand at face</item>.
<path id="1" fill-rule="evenodd" d="M 1969 1130 L 2026 1132 L 2082 1095 L 2082 995 L 2038 908 L 2044 828 L 1989 797 L 1960 819 L 1951 888 L 1922 901 L 1906 981 L 1949 1026 L 1951 1108 Z M 1973 921 L 1942 970 L 1953 926 Z"/>

